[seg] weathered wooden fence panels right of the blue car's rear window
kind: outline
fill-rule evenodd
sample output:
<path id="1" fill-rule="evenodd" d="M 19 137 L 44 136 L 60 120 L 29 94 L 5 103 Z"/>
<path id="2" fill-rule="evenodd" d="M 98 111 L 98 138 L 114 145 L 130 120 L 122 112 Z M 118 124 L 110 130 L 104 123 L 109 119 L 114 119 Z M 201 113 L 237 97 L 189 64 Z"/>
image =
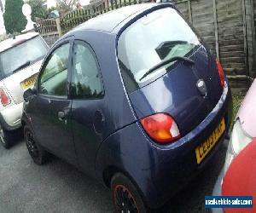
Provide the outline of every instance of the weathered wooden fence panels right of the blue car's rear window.
<path id="1" fill-rule="evenodd" d="M 240 83 L 236 81 L 239 87 L 247 86 L 256 74 L 255 1 L 174 0 L 173 2 L 214 50 L 229 78 L 239 79 Z"/>

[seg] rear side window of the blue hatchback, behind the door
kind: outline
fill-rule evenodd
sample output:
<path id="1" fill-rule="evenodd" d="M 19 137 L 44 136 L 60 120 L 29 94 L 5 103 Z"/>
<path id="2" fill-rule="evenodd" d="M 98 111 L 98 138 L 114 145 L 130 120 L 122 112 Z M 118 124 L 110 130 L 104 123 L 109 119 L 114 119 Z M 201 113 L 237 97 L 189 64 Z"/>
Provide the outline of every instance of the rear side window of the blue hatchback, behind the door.
<path id="1" fill-rule="evenodd" d="M 83 42 L 74 44 L 72 72 L 73 99 L 99 99 L 104 95 L 96 56 Z"/>

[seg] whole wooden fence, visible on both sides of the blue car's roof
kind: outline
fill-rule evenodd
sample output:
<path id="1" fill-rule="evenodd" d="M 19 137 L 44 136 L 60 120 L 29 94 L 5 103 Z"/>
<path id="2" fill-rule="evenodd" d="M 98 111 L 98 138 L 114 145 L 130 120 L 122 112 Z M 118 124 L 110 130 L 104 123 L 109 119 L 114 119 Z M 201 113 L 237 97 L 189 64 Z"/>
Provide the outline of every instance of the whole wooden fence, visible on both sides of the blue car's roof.
<path id="1" fill-rule="evenodd" d="M 38 32 L 52 44 L 59 35 L 98 14 L 135 3 L 143 0 L 102 1 L 96 9 L 74 10 L 61 20 L 41 20 L 37 23 Z M 256 1 L 172 0 L 172 3 L 215 52 L 230 78 L 255 77 Z"/>

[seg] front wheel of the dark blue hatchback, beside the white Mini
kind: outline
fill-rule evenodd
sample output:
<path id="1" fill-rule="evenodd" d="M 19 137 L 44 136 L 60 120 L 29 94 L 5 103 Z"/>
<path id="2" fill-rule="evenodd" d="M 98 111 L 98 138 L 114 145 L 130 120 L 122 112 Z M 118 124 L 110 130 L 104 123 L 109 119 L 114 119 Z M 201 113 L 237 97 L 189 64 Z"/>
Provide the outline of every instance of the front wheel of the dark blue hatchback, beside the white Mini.
<path id="1" fill-rule="evenodd" d="M 35 164 L 44 164 L 47 160 L 48 153 L 44 151 L 44 148 L 38 144 L 38 141 L 36 140 L 31 128 L 28 126 L 24 127 L 24 140 L 26 143 L 27 151 Z"/>

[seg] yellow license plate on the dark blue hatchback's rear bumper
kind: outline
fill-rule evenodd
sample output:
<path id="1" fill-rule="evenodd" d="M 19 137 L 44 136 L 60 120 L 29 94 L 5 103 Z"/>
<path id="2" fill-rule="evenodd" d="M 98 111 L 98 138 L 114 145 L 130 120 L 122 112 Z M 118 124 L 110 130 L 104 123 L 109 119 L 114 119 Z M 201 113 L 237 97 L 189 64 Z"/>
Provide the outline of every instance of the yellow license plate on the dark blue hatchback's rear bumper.
<path id="1" fill-rule="evenodd" d="M 222 118 L 220 124 L 218 124 L 218 127 L 212 132 L 212 135 L 209 136 L 207 141 L 204 141 L 199 147 L 195 149 L 197 164 L 200 164 L 201 161 L 207 157 L 207 154 L 215 146 L 220 136 L 223 135 L 225 129 L 225 121 L 224 118 Z"/>

